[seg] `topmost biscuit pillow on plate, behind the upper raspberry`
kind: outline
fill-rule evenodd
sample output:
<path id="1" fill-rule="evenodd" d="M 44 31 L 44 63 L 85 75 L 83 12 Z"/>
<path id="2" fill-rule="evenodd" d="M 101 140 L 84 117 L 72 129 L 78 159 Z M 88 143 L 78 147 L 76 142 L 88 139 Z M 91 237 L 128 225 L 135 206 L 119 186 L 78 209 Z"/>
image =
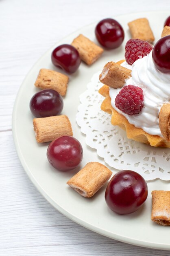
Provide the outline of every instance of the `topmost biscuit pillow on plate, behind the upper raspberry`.
<path id="1" fill-rule="evenodd" d="M 149 43 L 152 43 L 155 40 L 153 31 L 151 30 L 149 22 L 146 18 L 133 20 L 128 23 L 128 26 L 132 38 L 138 38 L 144 41 L 148 41 Z"/>

